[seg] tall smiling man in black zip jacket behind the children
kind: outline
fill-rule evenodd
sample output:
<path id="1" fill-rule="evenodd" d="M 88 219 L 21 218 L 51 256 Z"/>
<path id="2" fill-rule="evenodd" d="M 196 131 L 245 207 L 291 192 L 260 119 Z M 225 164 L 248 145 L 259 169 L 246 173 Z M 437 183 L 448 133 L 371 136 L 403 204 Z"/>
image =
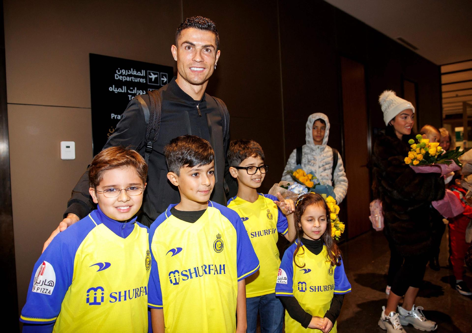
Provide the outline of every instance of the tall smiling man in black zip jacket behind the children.
<path id="1" fill-rule="evenodd" d="M 186 18 L 177 28 L 176 44 L 172 45 L 171 52 L 177 61 L 177 77 L 159 89 L 162 100 L 160 131 L 149 157 L 147 188 L 140 216 L 140 222 L 148 226 L 169 204 L 179 202 L 177 188 L 167 179 L 169 171 L 163 154 L 164 146 L 174 137 L 191 134 L 208 140 L 213 146 L 216 182 L 211 200 L 226 205 L 224 179 L 227 178 L 228 183 L 233 184 L 226 162 L 229 130 L 223 133 L 219 106 L 213 97 L 205 93 L 208 79 L 216 69 L 220 55 L 219 34 L 215 24 L 205 17 Z M 144 155 L 149 107 L 149 95 L 138 95 L 129 102 L 103 149 L 117 145 L 131 146 Z M 44 248 L 59 231 L 95 209 L 88 188 L 88 171 L 85 171 L 72 191 L 64 220 L 51 234 Z"/>

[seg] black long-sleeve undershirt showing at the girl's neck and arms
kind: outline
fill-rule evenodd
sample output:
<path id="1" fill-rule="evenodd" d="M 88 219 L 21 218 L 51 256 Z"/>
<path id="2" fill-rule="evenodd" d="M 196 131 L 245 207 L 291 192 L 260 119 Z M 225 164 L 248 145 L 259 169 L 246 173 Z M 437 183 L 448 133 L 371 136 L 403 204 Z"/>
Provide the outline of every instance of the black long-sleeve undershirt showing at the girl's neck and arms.
<path id="1" fill-rule="evenodd" d="M 319 255 L 323 249 L 323 240 L 312 240 L 303 238 L 303 245 L 310 252 L 315 255 Z M 312 320 L 312 315 L 303 310 L 300 303 L 295 297 L 279 297 L 280 301 L 287 309 L 288 314 L 295 319 L 297 322 L 302 324 L 304 328 L 307 328 Z M 327 317 L 333 324 L 336 321 L 337 317 L 341 313 L 341 307 L 343 305 L 344 294 L 334 294 L 333 299 L 331 300 L 331 306 L 329 310 L 326 311 L 325 317 Z"/>

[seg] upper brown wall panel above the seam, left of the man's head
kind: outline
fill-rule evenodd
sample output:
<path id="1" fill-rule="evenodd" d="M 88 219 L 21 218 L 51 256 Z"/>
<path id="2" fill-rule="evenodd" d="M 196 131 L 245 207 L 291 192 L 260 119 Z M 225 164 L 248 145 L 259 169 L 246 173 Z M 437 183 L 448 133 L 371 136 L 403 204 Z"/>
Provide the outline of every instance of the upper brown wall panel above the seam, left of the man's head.
<path id="1" fill-rule="evenodd" d="M 3 4 L 9 103 L 90 107 L 89 53 L 174 65 L 179 1 Z"/>

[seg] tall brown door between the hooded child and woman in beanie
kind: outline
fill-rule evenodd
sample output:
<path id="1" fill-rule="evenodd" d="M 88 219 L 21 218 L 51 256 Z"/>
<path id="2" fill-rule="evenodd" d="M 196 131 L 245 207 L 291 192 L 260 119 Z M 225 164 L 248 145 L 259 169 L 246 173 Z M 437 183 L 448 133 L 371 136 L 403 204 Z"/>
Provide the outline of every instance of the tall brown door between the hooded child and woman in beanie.
<path id="1" fill-rule="evenodd" d="M 349 181 L 347 190 L 347 237 L 353 238 L 371 229 L 369 221 L 370 179 L 369 119 L 367 116 L 364 65 L 341 57 L 344 119 L 344 167 Z"/>

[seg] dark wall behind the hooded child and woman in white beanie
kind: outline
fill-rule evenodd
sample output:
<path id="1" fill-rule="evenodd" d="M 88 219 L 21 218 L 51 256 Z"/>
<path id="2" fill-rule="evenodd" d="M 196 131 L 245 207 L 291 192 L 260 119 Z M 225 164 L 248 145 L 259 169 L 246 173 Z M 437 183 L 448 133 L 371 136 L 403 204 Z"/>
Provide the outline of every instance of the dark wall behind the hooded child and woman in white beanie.
<path id="1" fill-rule="evenodd" d="M 354 17 L 315 0 L 279 1 L 282 79 L 286 124 L 286 154 L 304 143 L 306 118 L 324 112 L 331 122 L 329 145 L 341 151 L 342 123 L 339 56 L 365 66 L 367 110 L 370 127 L 384 128 L 378 96 L 385 89 L 402 96 L 403 79 L 418 86 L 417 110 L 420 126 L 440 127 L 441 92 L 439 68 Z M 347 127 L 348 126 L 348 127 Z"/>

